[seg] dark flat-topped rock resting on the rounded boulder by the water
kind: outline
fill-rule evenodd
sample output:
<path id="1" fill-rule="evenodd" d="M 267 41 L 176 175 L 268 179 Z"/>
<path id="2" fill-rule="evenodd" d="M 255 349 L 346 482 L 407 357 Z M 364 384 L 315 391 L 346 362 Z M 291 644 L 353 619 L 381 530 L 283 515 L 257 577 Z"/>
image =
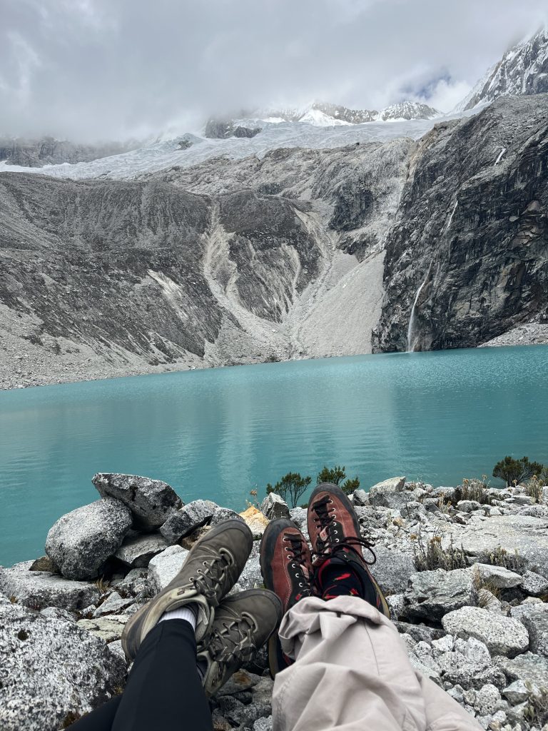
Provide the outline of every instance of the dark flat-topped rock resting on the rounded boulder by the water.
<path id="1" fill-rule="evenodd" d="M 129 507 L 136 526 L 145 530 L 159 528 L 183 503 L 173 488 L 161 480 L 137 474 L 99 472 L 91 482 L 101 497 L 112 497 Z"/>

